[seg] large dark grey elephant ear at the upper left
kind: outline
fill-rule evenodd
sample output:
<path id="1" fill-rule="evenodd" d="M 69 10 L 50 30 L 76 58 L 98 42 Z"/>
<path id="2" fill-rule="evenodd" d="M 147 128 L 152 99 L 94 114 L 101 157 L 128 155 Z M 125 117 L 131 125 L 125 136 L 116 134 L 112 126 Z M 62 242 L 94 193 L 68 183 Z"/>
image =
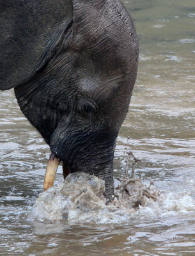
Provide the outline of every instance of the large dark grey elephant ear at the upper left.
<path id="1" fill-rule="evenodd" d="M 71 0 L 0 0 L 0 90 L 26 83 L 72 22 Z"/>

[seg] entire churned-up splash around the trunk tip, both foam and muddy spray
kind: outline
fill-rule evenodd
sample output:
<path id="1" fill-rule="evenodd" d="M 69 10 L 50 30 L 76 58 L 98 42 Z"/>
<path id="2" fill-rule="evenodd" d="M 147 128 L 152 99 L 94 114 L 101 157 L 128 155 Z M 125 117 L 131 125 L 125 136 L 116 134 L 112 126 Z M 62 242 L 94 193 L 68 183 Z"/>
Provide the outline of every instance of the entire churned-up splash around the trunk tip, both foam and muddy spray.
<path id="1" fill-rule="evenodd" d="M 75 223 L 127 223 L 139 216 L 167 216 L 194 211 L 189 195 L 160 193 L 153 184 L 139 179 L 123 179 L 112 204 L 105 205 L 104 180 L 88 173 L 72 173 L 65 182 L 49 188 L 36 199 L 28 220 Z"/>

